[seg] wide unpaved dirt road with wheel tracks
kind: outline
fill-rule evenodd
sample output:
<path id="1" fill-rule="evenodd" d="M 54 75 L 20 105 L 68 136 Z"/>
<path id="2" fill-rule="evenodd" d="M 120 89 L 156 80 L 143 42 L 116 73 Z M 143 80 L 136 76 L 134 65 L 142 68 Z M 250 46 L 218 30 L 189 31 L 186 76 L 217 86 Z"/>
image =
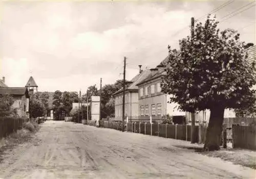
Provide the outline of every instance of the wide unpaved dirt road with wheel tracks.
<path id="1" fill-rule="evenodd" d="M 46 121 L 31 142 L 7 151 L 0 178 L 254 178 L 255 170 L 165 139 Z M 189 144 L 190 145 L 190 144 Z"/>

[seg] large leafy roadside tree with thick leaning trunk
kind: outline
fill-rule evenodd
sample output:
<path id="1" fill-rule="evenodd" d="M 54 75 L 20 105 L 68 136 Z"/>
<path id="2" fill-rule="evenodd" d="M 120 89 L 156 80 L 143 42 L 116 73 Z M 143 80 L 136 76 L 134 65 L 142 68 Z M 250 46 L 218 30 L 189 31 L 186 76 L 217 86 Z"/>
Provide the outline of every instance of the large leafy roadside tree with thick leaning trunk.
<path id="1" fill-rule="evenodd" d="M 195 37 L 179 41 L 180 49 L 169 46 L 169 60 L 162 91 L 183 111 L 210 110 L 205 150 L 219 149 L 224 110 L 246 108 L 255 102 L 254 64 L 247 61 L 247 44 L 240 34 L 217 29 L 216 17 L 197 23 Z"/>

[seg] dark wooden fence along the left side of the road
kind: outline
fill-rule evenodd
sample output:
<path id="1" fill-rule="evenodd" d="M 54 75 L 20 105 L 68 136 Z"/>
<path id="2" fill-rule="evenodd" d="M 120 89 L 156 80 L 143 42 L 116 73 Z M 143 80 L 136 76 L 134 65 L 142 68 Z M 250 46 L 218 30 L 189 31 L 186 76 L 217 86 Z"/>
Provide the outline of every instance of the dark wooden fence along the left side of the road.
<path id="1" fill-rule="evenodd" d="M 27 120 L 23 118 L 0 118 L 0 139 L 22 129 L 23 123 Z"/>

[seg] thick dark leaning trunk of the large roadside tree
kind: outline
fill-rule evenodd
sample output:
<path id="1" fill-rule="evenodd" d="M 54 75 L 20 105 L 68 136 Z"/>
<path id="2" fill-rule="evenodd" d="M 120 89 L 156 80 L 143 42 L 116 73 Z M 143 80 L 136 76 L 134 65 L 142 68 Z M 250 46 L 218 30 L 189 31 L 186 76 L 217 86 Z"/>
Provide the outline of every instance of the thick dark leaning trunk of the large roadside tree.
<path id="1" fill-rule="evenodd" d="M 220 149 L 224 109 L 225 108 L 222 107 L 210 109 L 210 120 L 207 128 L 204 150 L 211 151 Z"/>

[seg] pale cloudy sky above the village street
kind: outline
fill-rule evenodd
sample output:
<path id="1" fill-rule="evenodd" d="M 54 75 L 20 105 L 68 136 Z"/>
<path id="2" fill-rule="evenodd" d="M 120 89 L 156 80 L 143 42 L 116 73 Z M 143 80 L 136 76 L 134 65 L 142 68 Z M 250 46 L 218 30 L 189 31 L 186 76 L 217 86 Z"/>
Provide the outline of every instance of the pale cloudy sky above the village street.
<path id="1" fill-rule="evenodd" d="M 131 80 L 138 65 L 153 68 L 168 55 L 168 45 L 178 47 L 190 34 L 191 17 L 204 22 L 225 2 L 2 1 L 0 78 L 24 87 L 32 75 L 39 91 L 84 93 L 91 85 L 99 88 L 100 78 L 102 86 L 122 79 L 125 56 Z M 220 30 L 238 30 L 241 40 L 255 43 L 255 2 L 229 2 L 214 13 Z"/>

